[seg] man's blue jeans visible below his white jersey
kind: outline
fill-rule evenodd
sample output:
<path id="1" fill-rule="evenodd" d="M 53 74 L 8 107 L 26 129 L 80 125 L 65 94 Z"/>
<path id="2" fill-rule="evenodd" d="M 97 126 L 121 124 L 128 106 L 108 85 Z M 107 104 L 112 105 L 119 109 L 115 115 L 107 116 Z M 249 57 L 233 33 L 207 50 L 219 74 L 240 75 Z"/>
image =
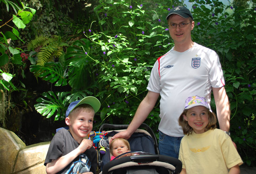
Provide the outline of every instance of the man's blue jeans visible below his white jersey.
<path id="1" fill-rule="evenodd" d="M 159 131 L 158 147 L 160 155 L 167 155 L 174 158 L 179 158 L 179 150 L 182 137 L 168 136 Z"/>

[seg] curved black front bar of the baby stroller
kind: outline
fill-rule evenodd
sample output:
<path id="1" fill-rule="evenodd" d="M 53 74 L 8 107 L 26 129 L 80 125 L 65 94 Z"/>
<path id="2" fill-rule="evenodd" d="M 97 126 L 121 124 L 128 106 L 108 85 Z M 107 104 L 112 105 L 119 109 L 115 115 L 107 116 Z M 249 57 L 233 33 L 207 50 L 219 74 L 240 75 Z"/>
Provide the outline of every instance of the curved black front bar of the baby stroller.
<path id="1" fill-rule="evenodd" d="M 108 174 L 108 170 L 117 165 L 123 164 L 125 162 L 135 162 L 143 165 L 144 163 L 151 163 L 154 161 L 167 162 L 175 166 L 175 174 L 179 174 L 182 170 L 182 162 L 174 157 L 166 155 L 134 155 L 125 156 L 113 161 L 108 162 L 102 169 L 102 174 Z"/>

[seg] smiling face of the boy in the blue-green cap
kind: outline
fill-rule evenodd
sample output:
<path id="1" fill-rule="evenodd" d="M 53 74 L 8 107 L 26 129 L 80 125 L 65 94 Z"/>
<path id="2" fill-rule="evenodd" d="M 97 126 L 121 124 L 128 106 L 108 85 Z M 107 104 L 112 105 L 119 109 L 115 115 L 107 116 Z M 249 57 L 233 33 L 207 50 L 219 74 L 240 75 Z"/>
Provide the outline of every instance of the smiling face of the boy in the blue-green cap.
<path id="1" fill-rule="evenodd" d="M 74 139 L 81 143 L 82 139 L 87 137 L 93 129 L 94 111 L 78 108 L 65 121 Z"/>

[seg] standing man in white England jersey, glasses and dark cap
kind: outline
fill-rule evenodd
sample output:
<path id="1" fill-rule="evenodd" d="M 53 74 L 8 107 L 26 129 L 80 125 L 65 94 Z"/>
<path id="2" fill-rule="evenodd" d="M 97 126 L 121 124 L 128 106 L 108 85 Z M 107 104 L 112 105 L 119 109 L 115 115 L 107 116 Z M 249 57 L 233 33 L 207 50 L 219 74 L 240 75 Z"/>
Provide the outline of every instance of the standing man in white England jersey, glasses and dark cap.
<path id="1" fill-rule="evenodd" d="M 228 134 L 230 110 L 219 57 L 213 50 L 192 41 L 195 22 L 190 11 L 177 6 L 170 10 L 166 19 L 175 46 L 155 62 L 148 82 L 148 94 L 141 101 L 128 129 L 112 139 L 128 139 L 148 117 L 160 95 L 160 154 L 178 158 L 184 136 L 178 117 L 187 97 L 203 96 L 210 103 L 213 91 L 220 129 Z"/>

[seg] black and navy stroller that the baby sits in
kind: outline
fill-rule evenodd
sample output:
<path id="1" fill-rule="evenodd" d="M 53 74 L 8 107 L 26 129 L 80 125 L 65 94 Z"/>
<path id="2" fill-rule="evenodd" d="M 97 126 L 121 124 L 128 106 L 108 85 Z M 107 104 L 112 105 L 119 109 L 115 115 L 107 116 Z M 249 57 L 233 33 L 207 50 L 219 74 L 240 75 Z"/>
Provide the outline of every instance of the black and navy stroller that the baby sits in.
<path id="1" fill-rule="evenodd" d="M 106 153 L 100 153 L 97 144 L 98 168 L 100 174 L 179 174 L 182 162 L 176 158 L 159 155 L 158 144 L 153 130 L 145 123 L 128 139 L 131 152 L 124 153 L 110 161 L 109 141 L 116 133 L 127 129 L 128 125 L 101 125 L 99 132 L 106 131 Z"/>

